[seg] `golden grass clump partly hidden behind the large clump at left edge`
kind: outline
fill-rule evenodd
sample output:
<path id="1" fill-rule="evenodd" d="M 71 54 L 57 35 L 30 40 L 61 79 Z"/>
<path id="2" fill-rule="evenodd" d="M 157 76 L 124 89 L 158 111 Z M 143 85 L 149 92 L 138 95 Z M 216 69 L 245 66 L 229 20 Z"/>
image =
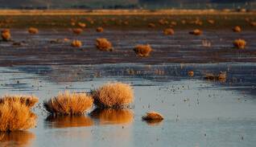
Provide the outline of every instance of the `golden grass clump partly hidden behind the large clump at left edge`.
<path id="1" fill-rule="evenodd" d="M 0 104 L 19 102 L 20 104 L 26 105 L 28 108 L 32 108 L 37 102 L 38 98 L 35 96 L 3 96 L 0 99 Z"/>

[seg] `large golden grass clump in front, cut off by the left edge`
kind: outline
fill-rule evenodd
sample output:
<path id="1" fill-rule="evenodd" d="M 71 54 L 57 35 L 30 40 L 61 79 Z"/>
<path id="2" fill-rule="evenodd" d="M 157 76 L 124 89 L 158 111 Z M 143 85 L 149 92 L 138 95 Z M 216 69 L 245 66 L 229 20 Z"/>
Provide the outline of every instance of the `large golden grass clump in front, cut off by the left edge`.
<path id="1" fill-rule="evenodd" d="M 11 100 L 10 100 L 11 101 Z M 31 129 L 36 124 L 35 114 L 20 101 L 0 104 L 0 131 L 11 132 Z"/>

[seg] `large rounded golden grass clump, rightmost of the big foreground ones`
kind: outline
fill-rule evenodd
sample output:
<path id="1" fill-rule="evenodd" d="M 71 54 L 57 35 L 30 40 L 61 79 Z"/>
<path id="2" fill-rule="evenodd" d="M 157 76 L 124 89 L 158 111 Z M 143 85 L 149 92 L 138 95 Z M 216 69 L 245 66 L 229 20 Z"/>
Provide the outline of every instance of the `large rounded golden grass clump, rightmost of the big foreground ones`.
<path id="1" fill-rule="evenodd" d="M 133 102 L 134 91 L 130 84 L 108 83 L 93 90 L 93 99 L 100 108 L 120 108 Z"/>

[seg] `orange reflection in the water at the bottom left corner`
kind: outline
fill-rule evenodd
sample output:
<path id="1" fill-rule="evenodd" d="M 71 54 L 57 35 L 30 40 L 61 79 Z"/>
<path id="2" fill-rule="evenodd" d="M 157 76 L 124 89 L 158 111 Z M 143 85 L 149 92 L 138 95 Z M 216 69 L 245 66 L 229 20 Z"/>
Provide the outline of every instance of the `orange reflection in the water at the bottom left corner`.
<path id="1" fill-rule="evenodd" d="M 0 146 L 32 146 L 35 134 L 27 131 L 0 133 Z"/>

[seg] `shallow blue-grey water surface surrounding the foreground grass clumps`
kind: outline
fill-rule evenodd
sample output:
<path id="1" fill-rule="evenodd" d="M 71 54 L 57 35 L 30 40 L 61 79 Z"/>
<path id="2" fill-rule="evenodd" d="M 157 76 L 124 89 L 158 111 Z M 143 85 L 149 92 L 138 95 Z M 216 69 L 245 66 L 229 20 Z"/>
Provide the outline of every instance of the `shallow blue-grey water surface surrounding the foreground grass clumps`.
<path id="1" fill-rule="evenodd" d="M 188 71 L 195 76 L 188 76 Z M 204 80 L 227 72 L 227 80 Z M 0 67 L 0 92 L 39 96 L 35 129 L 4 134 L 17 146 L 254 146 L 254 63 L 113 63 Z M 19 82 L 18 82 L 19 81 Z M 134 87 L 131 109 L 91 110 L 80 117 L 47 116 L 42 102 L 68 89 L 89 92 L 109 81 Z M 148 111 L 163 114 L 147 123 Z M 2 134 L 0 134 L 0 137 Z"/>

